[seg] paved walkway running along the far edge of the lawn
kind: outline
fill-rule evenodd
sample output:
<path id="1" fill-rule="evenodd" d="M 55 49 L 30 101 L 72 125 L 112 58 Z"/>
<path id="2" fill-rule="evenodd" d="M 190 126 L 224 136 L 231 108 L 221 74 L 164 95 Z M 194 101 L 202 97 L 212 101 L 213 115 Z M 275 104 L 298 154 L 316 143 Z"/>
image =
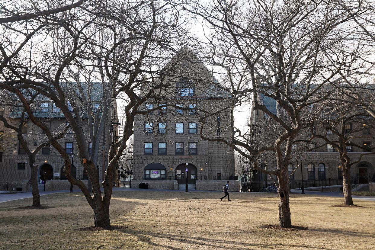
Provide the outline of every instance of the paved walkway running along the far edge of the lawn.
<path id="1" fill-rule="evenodd" d="M 103 191 L 103 189 L 102 189 Z M 185 190 L 172 190 L 172 189 L 138 189 L 138 188 L 130 188 L 130 187 L 115 187 L 113 191 L 164 191 L 164 192 L 185 192 Z M 301 190 L 298 189 L 291 189 L 291 193 L 301 193 Z M 61 192 L 69 192 L 69 190 L 60 190 L 60 191 L 42 191 L 40 195 L 48 195 L 50 193 L 61 193 Z M 80 189 L 74 189 L 73 192 L 81 192 Z M 221 192 L 221 191 L 210 191 L 210 190 L 193 190 L 192 192 Z M 263 193 L 263 192 L 243 192 L 243 193 Z M 318 191 L 305 191 L 306 195 L 326 195 L 326 196 L 333 196 L 333 197 L 341 197 L 344 198 L 342 192 L 318 192 Z M 33 197 L 31 192 L 26 193 L 8 193 L 8 194 L 0 194 L 0 203 L 6 201 L 14 201 L 18 199 L 24 198 L 31 198 Z M 375 196 L 357 196 L 352 195 L 353 199 L 359 200 L 368 200 L 368 201 L 375 201 Z"/>

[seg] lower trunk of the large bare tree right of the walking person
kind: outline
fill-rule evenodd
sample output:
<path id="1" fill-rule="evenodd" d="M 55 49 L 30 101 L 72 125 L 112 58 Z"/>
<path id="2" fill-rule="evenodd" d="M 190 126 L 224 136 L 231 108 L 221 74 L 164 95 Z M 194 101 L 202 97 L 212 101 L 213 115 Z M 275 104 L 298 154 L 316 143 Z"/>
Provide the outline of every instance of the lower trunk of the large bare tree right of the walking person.
<path id="1" fill-rule="evenodd" d="M 290 208 L 289 208 L 289 181 L 288 171 L 285 168 L 281 168 L 279 179 L 279 222 L 283 228 L 290 228 L 292 226 L 290 220 Z"/>

